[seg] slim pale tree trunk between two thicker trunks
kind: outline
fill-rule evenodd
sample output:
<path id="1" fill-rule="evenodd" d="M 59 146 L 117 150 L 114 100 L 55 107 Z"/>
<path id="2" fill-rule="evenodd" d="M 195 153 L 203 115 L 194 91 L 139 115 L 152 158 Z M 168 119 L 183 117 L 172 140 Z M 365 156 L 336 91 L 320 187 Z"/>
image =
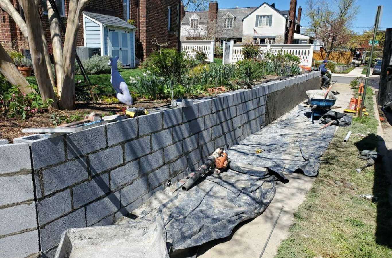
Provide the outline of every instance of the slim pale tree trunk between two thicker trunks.
<path id="1" fill-rule="evenodd" d="M 56 71 L 56 87 L 57 94 L 61 96 L 63 86 L 63 47 L 61 45 L 61 33 L 57 16 L 54 14 L 53 8 L 49 1 L 46 1 L 48 9 L 48 17 L 50 24 L 50 36 L 52 38 L 54 70 Z"/>

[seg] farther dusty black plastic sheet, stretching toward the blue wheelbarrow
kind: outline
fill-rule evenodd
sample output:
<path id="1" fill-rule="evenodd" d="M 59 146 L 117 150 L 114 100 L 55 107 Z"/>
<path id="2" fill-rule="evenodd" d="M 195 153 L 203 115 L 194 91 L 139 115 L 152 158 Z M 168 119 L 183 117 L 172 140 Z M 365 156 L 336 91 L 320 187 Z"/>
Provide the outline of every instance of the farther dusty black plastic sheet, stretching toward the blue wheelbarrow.
<path id="1" fill-rule="evenodd" d="M 309 108 L 298 106 L 285 114 L 285 119 L 269 124 L 263 130 L 250 135 L 227 152 L 233 161 L 268 167 L 281 174 L 303 172 L 307 176 L 318 175 L 321 156 L 327 150 L 336 126 L 318 130 L 321 121 L 311 123 Z M 263 150 L 256 153 L 256 150 Z"/>

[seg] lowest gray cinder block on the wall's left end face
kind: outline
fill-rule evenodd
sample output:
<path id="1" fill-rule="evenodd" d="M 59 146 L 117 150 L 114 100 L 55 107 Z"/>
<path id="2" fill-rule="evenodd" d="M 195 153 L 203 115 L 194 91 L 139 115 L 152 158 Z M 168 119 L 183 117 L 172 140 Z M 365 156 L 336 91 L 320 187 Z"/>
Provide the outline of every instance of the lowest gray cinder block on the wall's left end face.
<path id="1" fill-rule="evenodd" d="M 27 257 L 38 254 L 38 230 L 0 238 L 2 258 Z"/>

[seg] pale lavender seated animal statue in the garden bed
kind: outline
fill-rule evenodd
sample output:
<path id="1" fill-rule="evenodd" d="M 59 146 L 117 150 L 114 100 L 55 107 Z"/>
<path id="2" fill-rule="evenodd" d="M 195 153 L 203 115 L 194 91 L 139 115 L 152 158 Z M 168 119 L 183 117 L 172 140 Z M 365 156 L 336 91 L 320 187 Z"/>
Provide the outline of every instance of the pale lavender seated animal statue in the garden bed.
<path id="1" fill-rule="evenodd" d="M 133 105 L 133 99 L 129 93 L 128 85 L 125 83 L 117 69 L 118 56 L 109 59 L 110 61 L 108 65 L 112 67 L 110 82 L 112 83 L 114 90 L 117 92 L 117 99 L 125 105 Z"/>

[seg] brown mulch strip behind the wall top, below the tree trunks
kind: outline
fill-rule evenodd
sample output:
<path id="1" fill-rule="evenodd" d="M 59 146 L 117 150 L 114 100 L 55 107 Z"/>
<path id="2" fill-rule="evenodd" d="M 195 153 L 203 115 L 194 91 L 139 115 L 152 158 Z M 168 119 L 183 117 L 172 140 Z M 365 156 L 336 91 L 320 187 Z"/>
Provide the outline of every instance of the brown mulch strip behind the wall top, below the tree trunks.
<path id="1" fill-rule="evenodd" d="M 158 108 L 169 105 L 170 101 L 164 100 L 148 100 L 142 99 L 135 101 L 132 107 L 143 107 L 146 109 Z M 120 114 L 121 110 L 118 107 L 124 107 L 122 104 L 100 104 L 100 103 L 76 103 L 76 110 L 71 111 L 56 111 L 53 113 L 62 114 L 64 116 L 80 115 L 83 117 L 85 114 L 95 112 L 101 115 Z M 56 127 L 59 124 L 54 124 L 51 113 L 35 114 L 25 120 L 19 118 L 9 118 L 0 114 L 0 139 L 7 139 L 9 143 L 13 143 L 14 138 L 30 135 L 23 134 L 22 129 L 29 127 Z"/>

